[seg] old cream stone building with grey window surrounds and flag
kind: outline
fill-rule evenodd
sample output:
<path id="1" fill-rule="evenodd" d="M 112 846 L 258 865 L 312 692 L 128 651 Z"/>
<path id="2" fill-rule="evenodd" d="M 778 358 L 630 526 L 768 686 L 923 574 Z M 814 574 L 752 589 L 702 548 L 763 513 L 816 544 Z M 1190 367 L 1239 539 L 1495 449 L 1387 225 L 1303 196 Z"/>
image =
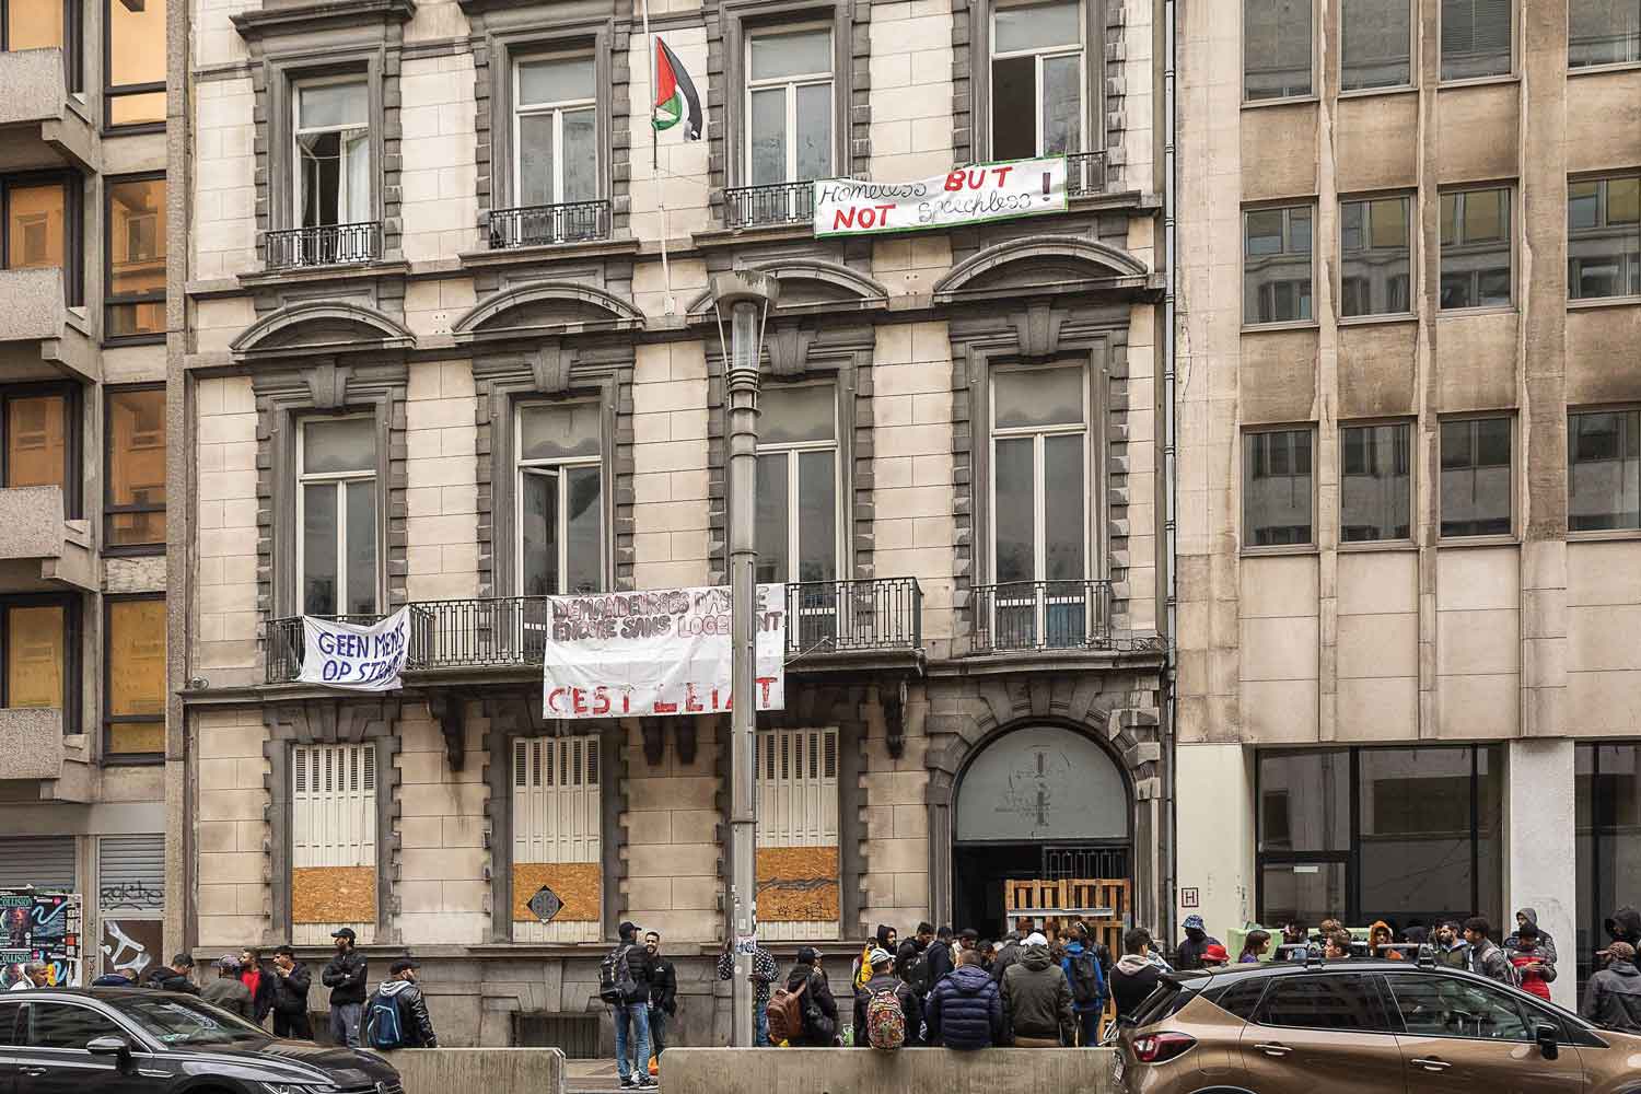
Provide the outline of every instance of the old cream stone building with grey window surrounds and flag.
<path id="1" fill-rule="evenodd" d="M 1019 876 L 1165 917 L 1162 8 L 192 3 L 189 945 L 318 960 L 348 925 L 377 976 L 423 960 L 441 1042 L 574 1053 L 607 1037 L 596 966 L 633 920 L 678 961 L 674 1035 L 724 1037 L 725 718 L 548 718 L 542 658 L 550 594 L 724 581 L 707 285 L 732 267 L 781 287 L 765 945 L 842 973 L 876 923 L 1001 932 Z M 645 15 L 697 143 L 651 131 Z M 1068 154 L 1063 213 L 811 230 L 812 179 L 1040 153 Z M 402 605 L 402 691 L 297 682 L 304 613 Z"/>

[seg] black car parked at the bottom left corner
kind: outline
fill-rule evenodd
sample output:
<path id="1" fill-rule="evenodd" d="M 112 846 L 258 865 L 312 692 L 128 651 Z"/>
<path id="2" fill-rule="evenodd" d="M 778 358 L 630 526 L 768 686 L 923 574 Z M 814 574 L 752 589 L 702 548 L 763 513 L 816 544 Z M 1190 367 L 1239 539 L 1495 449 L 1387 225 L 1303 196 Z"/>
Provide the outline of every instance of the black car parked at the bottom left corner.
<path id="1" fill-rule="evenodd" d="M 282 1042 L 195 996 L 90 987 L 0 996 L 0 1094 L 404 1094 L 387 1061 Z"/>

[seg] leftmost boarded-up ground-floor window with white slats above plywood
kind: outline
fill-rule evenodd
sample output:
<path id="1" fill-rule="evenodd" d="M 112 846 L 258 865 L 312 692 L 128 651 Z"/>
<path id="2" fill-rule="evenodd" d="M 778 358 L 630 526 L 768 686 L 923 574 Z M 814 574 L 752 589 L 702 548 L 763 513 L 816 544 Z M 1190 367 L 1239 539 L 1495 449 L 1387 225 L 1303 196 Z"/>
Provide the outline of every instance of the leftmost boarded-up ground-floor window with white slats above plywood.
<path id="1" fill-rule="evenodd" d="M 376 937 L 374 743 L 290 750 L 290 923 L 299 946 Z"/>

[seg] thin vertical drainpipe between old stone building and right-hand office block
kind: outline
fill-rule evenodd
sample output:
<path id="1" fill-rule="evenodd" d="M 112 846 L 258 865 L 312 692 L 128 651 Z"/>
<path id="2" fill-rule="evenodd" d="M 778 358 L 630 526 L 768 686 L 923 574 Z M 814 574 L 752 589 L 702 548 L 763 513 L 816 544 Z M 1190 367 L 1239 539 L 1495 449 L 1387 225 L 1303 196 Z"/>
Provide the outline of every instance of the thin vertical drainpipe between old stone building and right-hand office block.
<path id="1" fill-rule="evenodd" d="M 1165 905 L 1162 907 L 1162 915 L 1159 919 L 1157 928 L 1162 932 L 1163 938 L 1175 938 L 1173 930 L 1173 912 L 1177 904 L 1175 886 L 1178 884 L 1178 805 L 1175 802 L 1175 766 L 1178 763 L 1178 750 L 1173 732 L 1175 718 L 1175 686 L 1178 684 L 1178 495 L 1180 495 L 1180 472 L 1178 472 L 1178 400 L 1175 394 L 1175 344 L 1173 344 L 1173 302 L 1175 302 L 1175 285 L 1177 285 L 1177 264 L 1178 264 L 1178 248 L 1175 246 L 1175 66 L 1177 66 L 1177 36 L 1175 36 L 1175 3 L 1177 0 L 1163 0 L 1162 5 L 1162 26 L 1163 26 L 1163 71 L 1162 71 L 1162 239 L 1163 239 L 1163 294 L 1162 294 L 1162 482 L 1163 482 L 1163 564 L 1167 568 L 1168 581 L 1168 599 L 1167 599 L 1167 627 L 1168 627 L 1168 651 L 1167 663 L 1163 668 L 1162 679 L 1162 743 L 1163 756 L 1167 763 L 1162 771 L 1162 807 L 1167 815 L 1167 840 L 1163 846 L 1168 851 L 1167 869 L 1163 871 Z"/>

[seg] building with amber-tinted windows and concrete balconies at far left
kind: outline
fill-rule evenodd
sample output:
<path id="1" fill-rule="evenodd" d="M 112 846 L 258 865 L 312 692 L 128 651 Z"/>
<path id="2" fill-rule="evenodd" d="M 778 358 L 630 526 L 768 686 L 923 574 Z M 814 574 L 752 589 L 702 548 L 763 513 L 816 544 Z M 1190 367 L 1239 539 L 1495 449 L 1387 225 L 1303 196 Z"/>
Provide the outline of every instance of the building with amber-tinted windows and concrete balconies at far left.
<path id="1" fill-rule="evenodd" d="M 164 869 L 166 2 L 0 15 L 0 887 L 80 896 L 80 968 L 56 974 L 90 979 L 158 960 L 181 910 Z"/>

